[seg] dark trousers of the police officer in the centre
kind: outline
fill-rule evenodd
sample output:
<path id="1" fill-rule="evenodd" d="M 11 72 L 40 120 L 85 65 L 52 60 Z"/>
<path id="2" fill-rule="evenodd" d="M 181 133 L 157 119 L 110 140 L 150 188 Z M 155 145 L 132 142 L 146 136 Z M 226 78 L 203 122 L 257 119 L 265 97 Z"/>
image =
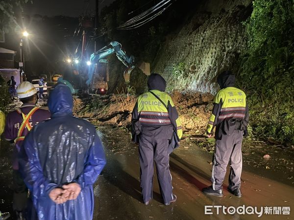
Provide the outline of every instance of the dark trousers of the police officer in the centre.
<path id="1" fill-rule="evenodd" d="M 153 160 L 156 164 L 157 178 L 164 203 L 172 201 L 172 175 L 170 173 L 169 140 L 141 133 L 139 139 L 140 177 L 144 202 L 153 196 Z"/>

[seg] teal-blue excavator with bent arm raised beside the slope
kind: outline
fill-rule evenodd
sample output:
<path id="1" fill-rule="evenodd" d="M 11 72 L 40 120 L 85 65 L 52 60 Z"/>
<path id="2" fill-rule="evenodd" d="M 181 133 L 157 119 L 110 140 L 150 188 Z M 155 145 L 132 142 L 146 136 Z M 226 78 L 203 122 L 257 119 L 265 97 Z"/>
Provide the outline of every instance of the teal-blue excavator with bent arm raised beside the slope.
<path id="1" fill-rule="evenodd" d="M 106 93 L 106 91 L 108 90 L 108 64 L 105 70 L 106 74 L 101 74 L 103 76 L 100 76 L 99 74 L 99 71 L 101 69 L 99 64 L 107 63 L 107 60 L 105 60 L 104 58 L 113 53 L 116 53 L 117 58 L 123 63 L 124 66 L 126 66 L 123 77 L 126 82 L 129 82 L 130 73 L 135 68 L 134 56 L 127 56 L 122 49 L 122 44 L 117 41 L 113 41 L 109 45 L 102 47 L 90 56 L 90 61 L 88 62 L 88 79 L 86 81 L 88 93 L 92 93 L 93 91 L 95 91 L 96 93 L 103 94 Z M 148 63 L 143 62 L 139 67 L 146 75 L 150 74 L 150 66 Z M 64 80 L 63 78 L 59 78 L 58 82 L 66 84 L 71 89 L 72 93 L 77 93 L 77 91 L 79 90 L 73 88 L 71 83 L 67 80 Z"/>

